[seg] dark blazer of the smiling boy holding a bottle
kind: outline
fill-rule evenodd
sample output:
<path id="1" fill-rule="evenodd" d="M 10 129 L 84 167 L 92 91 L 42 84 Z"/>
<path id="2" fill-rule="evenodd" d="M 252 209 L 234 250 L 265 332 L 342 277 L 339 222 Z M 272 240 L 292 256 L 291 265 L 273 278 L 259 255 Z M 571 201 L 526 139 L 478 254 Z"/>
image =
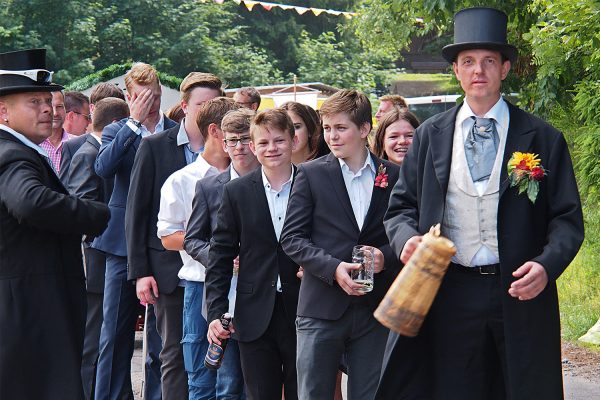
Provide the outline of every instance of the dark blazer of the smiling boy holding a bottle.
<path id="1" fill-rule="evenodd" d="M 238 254 L 234 322 L 238 339 L 250 342 L 267 330 L 275 306 L 278 274 L 285 313 L 293 329 L 300 287 L 298 266 L 285 254 L 275 235 L 260 168 L 223 189 L 206 268 L 208 321 L 227 312 L 233 260 Z"/>

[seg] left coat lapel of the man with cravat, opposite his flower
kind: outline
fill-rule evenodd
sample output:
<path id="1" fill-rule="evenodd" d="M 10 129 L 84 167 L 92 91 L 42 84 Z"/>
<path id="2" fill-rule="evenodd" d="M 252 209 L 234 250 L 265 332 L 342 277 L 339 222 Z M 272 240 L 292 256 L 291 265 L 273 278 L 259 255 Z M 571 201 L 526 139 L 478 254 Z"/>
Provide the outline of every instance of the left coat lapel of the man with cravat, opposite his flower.
<path id="1" fill-rule="evenodd" d="M 460 105 L 448 111 L 434 123 L 434 129 L 430 135 L 429 146 L 433 160 L 433 167 L 438 183 L 445 197 L 448 191 L 448 180 L 450 177 L 450 162 L 452 160 L 452 144 L 454 139 L 454 122 Z"/>

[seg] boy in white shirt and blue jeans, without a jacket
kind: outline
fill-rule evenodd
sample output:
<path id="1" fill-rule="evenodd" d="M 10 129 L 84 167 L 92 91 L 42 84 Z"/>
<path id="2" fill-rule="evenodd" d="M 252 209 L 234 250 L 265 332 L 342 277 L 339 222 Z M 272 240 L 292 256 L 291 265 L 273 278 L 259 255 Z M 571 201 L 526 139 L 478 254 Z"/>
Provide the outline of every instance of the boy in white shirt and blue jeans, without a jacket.
<path id="1" fill-rule="evenodd" d="M 221 121 L 237 106 L 231 99 L 217 97 L 200 106 L 196 118 L 204 140 L 204 152 L 196 161 L 174 172 L 160 191 L 157 235 L 167 250 L 179 251 L 183 266 L 178 277 L 185 282 L 183 294 L 183 360 L 188 377 L 189 398 L 205 398 L 214 391 L 214 373 L 203 364 L 208 345 L 206 321 L 200 316 L 204 290 L 204 265 L 183 250 L 187 221 L 192 212 L 196 183 L 205 176 L 216 175 L 229 166 L 223 151 Z"/>

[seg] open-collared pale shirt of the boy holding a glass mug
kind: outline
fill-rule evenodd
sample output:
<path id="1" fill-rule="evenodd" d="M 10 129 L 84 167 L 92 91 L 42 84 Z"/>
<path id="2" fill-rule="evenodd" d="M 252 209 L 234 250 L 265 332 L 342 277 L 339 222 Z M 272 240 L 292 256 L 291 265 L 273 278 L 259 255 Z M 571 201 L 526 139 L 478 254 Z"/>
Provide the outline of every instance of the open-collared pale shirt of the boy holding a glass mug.
<path id="1" fill-rule="evenodd" d="M 365 150 L 367 151 L 367 150 Z M 350 170 L 348 164 L 341 158 L 338 158 L 340 167 L 342 168 L 342 176 L 352 211 L 358 224 L 358 229 L 362 229 L 371 204 L 371 196 L 373 195 L 373 186 L 375 185 L 375 164 L 371 158 L 371 154 L 367 153 L 367 158 L 362 168 L 355 174 Z"/>

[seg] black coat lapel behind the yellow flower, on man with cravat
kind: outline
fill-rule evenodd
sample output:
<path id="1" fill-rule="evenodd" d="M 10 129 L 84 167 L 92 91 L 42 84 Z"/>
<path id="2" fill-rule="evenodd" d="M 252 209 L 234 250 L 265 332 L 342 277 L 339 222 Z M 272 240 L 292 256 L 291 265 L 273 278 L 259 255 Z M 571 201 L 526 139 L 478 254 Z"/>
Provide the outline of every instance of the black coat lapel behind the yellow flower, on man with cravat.
<path id="1" fill-rule="evenodd" d="M 500 171 L 500 193 L 506 191 L 509 185 L 507 165 L 515 151 L 522 153 L 532 152 L 531 142 L 534 137 L 535 130 L 531 126 L 527 114 L 512 104 L 508 103 L 510 113 L 510 122 L 508 124 L 508 133 L 506 137 L 506 146 L 504 148 L 504 158 L 502 160 L 502 169 Z"/>

